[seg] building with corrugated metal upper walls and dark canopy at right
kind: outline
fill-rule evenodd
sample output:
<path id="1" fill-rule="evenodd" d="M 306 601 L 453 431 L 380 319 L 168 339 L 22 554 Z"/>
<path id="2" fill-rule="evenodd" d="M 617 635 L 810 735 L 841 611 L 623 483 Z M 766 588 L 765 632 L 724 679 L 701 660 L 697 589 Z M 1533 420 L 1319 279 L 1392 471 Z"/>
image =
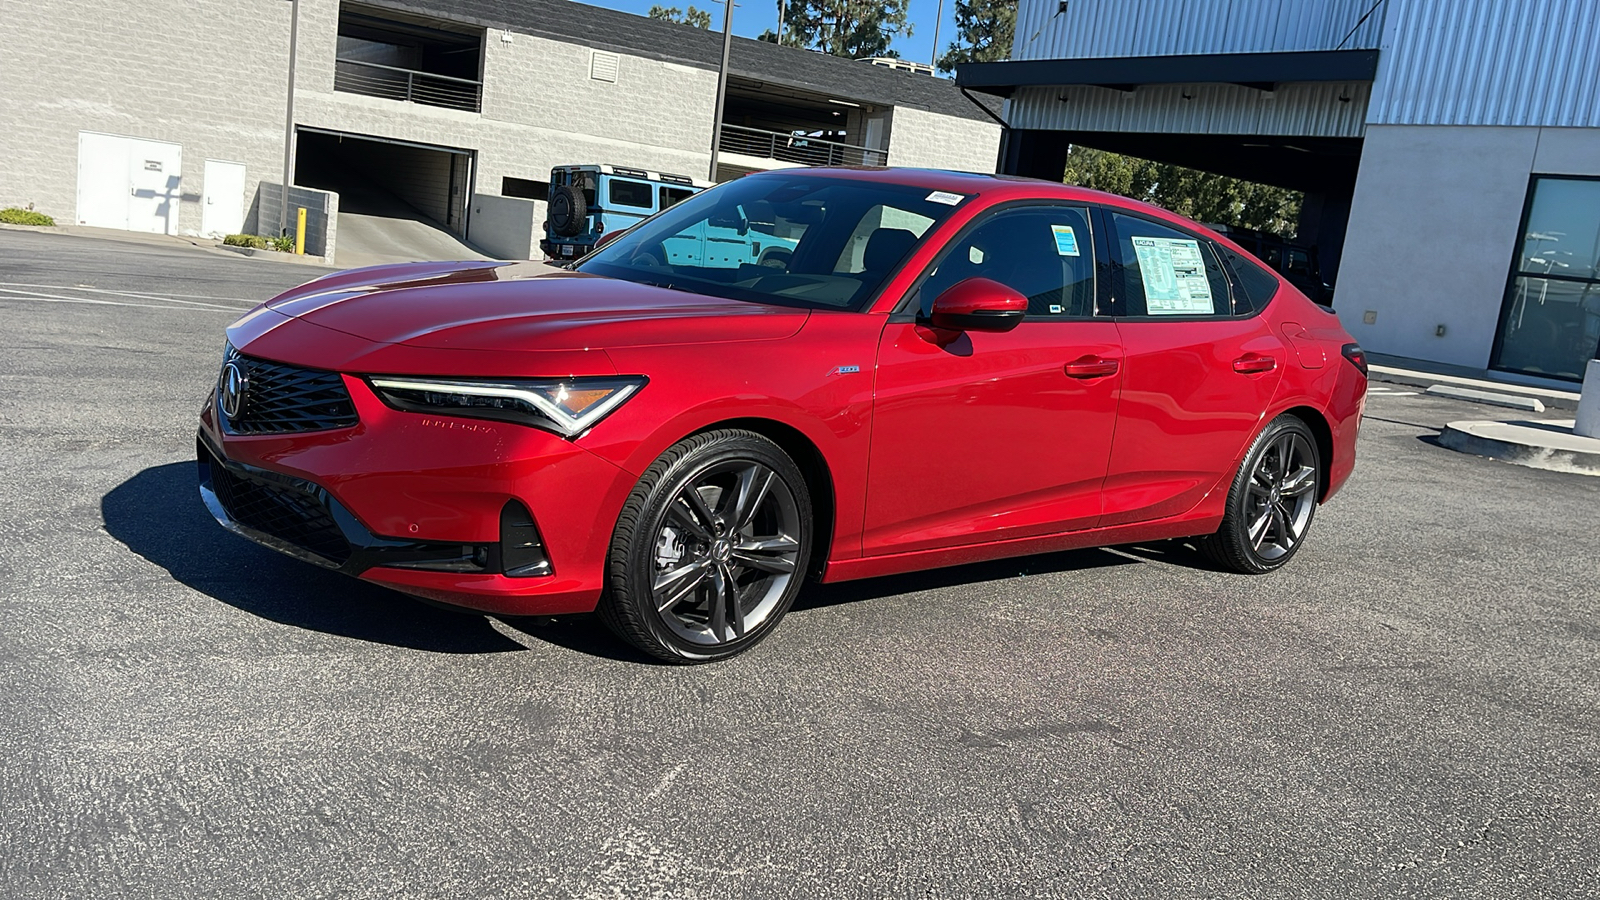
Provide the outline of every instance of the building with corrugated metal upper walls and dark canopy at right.
<path id="1" fill-rule="evenodd" d="M 1306 192 L 1378 354 L 1566 384 L 1600 348 L 1600 3 L 1021 0 L 1002 168 L 1082 144 Z"/>

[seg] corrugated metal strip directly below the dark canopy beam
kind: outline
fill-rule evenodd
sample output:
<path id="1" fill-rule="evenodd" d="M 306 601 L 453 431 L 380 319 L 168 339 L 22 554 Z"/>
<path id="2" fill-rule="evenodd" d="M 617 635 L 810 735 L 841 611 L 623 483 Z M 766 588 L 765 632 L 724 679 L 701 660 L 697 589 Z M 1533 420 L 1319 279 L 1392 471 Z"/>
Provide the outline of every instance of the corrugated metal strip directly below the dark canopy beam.
<path id="1" fill-rule="evenodd" d="M 1360 138 L 1370 90 L 1366 82 L 1280 85 L 1272 94 L 1238 85 L 1022 88 L 1006 115 L 1013 128 L 1059 131 Z"/>

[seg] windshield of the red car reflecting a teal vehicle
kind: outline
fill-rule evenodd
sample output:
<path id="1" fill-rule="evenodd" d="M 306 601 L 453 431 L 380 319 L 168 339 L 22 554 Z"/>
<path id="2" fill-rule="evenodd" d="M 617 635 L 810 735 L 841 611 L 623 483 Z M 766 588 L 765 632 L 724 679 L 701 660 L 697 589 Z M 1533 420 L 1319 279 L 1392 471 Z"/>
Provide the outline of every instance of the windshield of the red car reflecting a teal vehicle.
<path id="1" fill-rule="evenodd" d="M 962 195 L 755 175 L 634 226 L 576 269 L 728 299 L 861 309 Z"/>

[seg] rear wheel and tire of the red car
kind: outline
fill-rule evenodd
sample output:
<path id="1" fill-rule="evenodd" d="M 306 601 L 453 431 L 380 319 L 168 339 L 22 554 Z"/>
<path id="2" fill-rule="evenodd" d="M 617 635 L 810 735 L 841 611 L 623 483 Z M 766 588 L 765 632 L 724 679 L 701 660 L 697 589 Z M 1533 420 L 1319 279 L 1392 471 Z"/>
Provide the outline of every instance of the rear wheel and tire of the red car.
<path id="1" fill-rule="evenodd" d="M 1282 569 L 1310 533 L 1320 484 L 1322 460 L 1310 429 L 1291 415 L 1272 420 L 1245 453 L 1227 488 L 1222 525 L 1200 541 L 1200 551 L 1243 575 Z"/>

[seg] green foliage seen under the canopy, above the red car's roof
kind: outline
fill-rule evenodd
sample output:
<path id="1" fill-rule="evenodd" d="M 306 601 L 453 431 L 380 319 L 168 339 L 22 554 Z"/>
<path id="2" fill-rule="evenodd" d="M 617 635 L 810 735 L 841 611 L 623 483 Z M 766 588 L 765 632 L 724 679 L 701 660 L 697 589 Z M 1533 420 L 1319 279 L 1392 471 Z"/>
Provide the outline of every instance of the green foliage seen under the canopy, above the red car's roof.
<path id="1" fill-rule="evenodd" d="M 1304 200 L 1301 192 L 1285 187 L 1082 146 L 1067 152 L 1062 179 L 1155 203 L 1195 221 L 1283 237 L 1294 235 Z"/>

